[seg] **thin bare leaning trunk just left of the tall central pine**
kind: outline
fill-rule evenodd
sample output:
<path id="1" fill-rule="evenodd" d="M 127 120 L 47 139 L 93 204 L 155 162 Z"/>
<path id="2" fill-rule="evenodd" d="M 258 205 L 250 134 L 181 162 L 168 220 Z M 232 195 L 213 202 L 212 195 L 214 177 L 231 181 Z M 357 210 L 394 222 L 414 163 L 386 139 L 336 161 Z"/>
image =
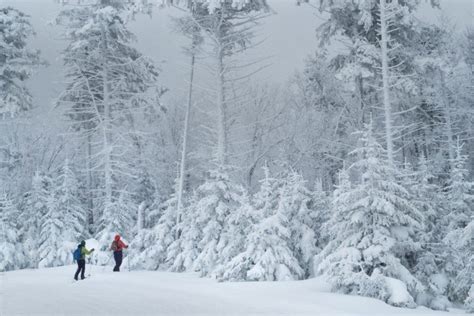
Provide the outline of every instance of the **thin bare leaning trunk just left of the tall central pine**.
<path id="1" fill-rule="evenodd" d="M 186 157 L 188 150 L 188 135 L 189 135 L 189 117 L 191 114 L 192 96 L 193 96 L 193 81 L 194 81 L 194 64 L 195 64 L 195 53 L 191 55 L 191 70 L 189 75 L 189 86 L 188 86 L 188 100 L 186 105 L 186 114 L 184 116 L 184 129 L 183 129 L 183 148 L 181 150 L 181 162 L 179 167 L 179 179 L 178 179 L 178 201 L 176 207 L 176 239 L 180 236 L 179 223 L 181 222 L 181 208 L 183 206 L 183 191 L 184 191 L 184 178 L 186 173 Z"/>

